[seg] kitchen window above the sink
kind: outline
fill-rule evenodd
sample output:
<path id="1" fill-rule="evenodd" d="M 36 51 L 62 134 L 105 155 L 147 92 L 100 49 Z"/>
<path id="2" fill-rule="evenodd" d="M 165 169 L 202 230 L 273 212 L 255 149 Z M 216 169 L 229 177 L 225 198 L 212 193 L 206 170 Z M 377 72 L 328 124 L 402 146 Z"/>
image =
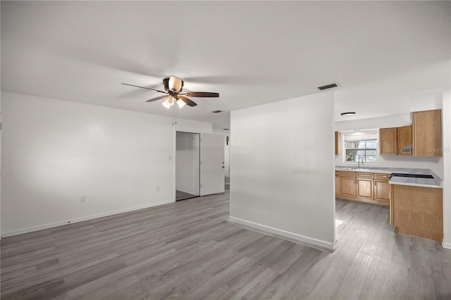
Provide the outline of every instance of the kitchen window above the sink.
<path id="1" fill-rule="evenodd" d="M 358 135 L 360 134 L 360 135 Z M 364 163 L 378 163 L 378 135 L 356 132 L 344 135 L 344 163 L 357 163 L 362 156 Z"/>

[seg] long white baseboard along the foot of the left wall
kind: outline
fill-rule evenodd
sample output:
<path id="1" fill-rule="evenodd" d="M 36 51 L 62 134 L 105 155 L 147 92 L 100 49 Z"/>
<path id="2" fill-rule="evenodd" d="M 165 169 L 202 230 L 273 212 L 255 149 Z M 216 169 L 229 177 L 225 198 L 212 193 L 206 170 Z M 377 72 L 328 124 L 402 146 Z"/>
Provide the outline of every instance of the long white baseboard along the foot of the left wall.
<path id="1" fill-rule="evenodd" d="M 130 211 L 139 211 L 140 209 L 151 208 L 154 206 L 160 206 L 160 205 L 164 205 L 164 204 L 170 204 L 173 202 L 175 202 L 175 201 L 174 200 L 161 201 L 161 202 L 157 202 L 157 203 L 153 203 L 153 204 L 145 204 L 145 205 L 141 205 L 141 206 L 134 206 L 131 208 L 119 209 L 118 211 L 108 211 L 106 213 L 97 213 L 95 215 L 86 215 L 84 217 L 75 218 L 75 219 L 71 219 L 71 220 L 63 220 L 63 221 L 47 223 L 47 224 L 43 224 L 43 225 L 20 228 L 17 230 L 10 230 L 10 231 L 6 231 L 6 232 L 1 232 L 1 237 L 11 237 L 13 235 L 21 235 L 23 233 L 49 229 L 49 228 L 58 227 L 61 225 L 69 225 L 69 224 L 79 223 L 79 222 L 83 222 L 83 221 L 87 221 L 87 220 L 108 217 L 110 215 L 118 215 L 119 213 L 128 213 Z"/>

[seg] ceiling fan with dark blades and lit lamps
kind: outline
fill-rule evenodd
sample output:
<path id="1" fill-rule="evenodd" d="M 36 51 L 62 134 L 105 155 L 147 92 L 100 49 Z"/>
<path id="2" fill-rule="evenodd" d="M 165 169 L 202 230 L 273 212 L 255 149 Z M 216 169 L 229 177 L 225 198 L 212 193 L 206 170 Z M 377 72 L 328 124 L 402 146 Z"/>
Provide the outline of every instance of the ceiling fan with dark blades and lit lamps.
<path id="1" fill-rule="evenodd" d="M 163 102 L 163 106 L 166 108 L 171 108 L 175 102 L 179 108 L 182 108 L 187 104 L 188 106 L 197 106 L 197 104 L 188 98 L 191 97 L 218 97 L 218 93 L 210 93 L 210 92 L 182 92 L 183 84 L 185 82 L 178 77 L 171 76 L 169 78 L 163 79 L 164 90 L 160 91 L 159 89 L 152 89 L 152 91 L 160 92 L 165 94 L 164 96 L 158 96 L 153 99 L 149 99 L 146 102 L 153 102 L 161 99 L 165 99 Z M 128 83 L 123 83 L 123 85 L 129 85 Z M 138 85 L 130 85 L 130 87 L 140 87 Z M 151 89 L 150 87 L 140 87 L 141 89 Z"/>

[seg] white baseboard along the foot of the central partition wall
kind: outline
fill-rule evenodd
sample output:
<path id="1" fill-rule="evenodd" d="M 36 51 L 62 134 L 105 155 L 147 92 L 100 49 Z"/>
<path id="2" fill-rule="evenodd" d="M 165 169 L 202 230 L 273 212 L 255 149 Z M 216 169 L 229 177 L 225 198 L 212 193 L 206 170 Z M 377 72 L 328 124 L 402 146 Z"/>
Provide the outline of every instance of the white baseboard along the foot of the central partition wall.
<path id="1" fill-rule="evenodd" d="M 322 241 L 321 239 L 312 239 L 311 237 L 305 237 L 303 235 L 297 235 L 293 232 L 288 232 L 285 230 L 280 230 L 274 227 L 261 225 L 259 223 L 254 223 L 247 220 L 242 220 L 240 218 L 235 217 L 229 217 L 228 222 L 234 223 L 237 225 L 241 225 L 242 227 L 245 227 L 249 230 L 254 230 L 260 233 L 263 233 L 265 235 L 271 235 L 275 237 L 280 237 L 283 239 L 288 239 L 291 242 L 295 242 L 297 244 L 303 244 L 305 246 L 309 246 L 312 248 L 316 248 L 322 251 L 334 251 L 335 245 L 330 242 Z"/>

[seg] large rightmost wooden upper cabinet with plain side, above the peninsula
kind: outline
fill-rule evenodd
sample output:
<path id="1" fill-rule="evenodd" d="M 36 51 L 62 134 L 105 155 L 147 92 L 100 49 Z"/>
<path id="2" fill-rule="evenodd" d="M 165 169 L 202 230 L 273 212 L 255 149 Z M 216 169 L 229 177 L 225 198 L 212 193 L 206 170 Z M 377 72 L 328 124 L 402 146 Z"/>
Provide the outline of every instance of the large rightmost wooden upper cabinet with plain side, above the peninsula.
<path id="1" fill-rule="evenodd" d="M 442 110 L 413 115 L 414 156 L 442 156 Z"/>

